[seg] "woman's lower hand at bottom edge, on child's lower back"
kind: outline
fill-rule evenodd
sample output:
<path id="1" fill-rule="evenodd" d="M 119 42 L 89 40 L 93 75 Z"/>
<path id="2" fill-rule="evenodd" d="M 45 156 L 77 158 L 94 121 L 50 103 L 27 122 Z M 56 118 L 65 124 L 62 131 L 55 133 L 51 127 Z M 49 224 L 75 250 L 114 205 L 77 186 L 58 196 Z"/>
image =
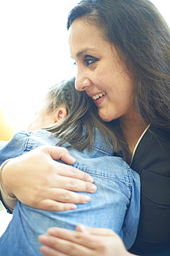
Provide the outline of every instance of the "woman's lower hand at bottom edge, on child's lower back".
<path id="1" fill-rule="evenodd" d="M 49 228 L 49 235 L 39 236 L 46 256 L 129 256 L 123 241 L 113 230 L 85 228 L 79 224 L 77 231 Z"/>

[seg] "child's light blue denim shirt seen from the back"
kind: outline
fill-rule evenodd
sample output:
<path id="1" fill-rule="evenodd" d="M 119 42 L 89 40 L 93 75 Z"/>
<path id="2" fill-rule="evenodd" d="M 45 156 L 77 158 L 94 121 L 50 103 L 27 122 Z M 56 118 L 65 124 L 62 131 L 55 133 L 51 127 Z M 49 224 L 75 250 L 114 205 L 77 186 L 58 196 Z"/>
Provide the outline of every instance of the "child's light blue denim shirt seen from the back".
<path id="1" fill-rule="evenodd" d="M 49 131 L 21 131 L 8 143 L 0 146 L 0 163 L 8 158 L 25 154 L 41 145 L 57 145 Z M 63 147 L 67 147 L 65 143 Z M 96 192 L 89 194 L 91 201 L 78 204 L 76 210 L 51 212 L 30 208 L 17 202 L 12 221 L 1 236 L 0 255 L 41 255 L 38 236 L 47 228 L 57 226 L 75 230 L 78 223 L 96 228 L 111 228 L 123 239 L 127 249 L 135 241 L 140 215 L 140 178 L 122 158 L 113 156 L 97 131 L 93 152 L 68 149 L 76 158 L 72 166 L 94 178 Z M 88 194 L 88 193 L 85 193 Z M 29 195 L 28 195 L 29 196 Z"/>

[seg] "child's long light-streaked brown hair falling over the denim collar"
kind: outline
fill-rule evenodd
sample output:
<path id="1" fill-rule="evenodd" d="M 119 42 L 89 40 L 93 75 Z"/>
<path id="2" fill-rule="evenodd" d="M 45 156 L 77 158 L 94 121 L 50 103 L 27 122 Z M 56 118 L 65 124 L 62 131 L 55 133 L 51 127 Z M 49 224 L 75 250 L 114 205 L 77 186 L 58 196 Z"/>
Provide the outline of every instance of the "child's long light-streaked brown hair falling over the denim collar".
<path id="1" fill-rule="evenodd" d="M 52 136 L 60 138 L 59 146 L 63 143 L 70 143 L 79 151 L 83 149 L 92 150 L 95 140 L 95 127 L 100 131 L 107 146 L 113 148 L 117 153 L 128 161 L 129 151 L 127 145 L 120 139 L 118 134 L 105 125 L 105 122 L 98 116 L 98 110 L 92 98 L 89 98 L 85 91 L 80 92 L 74 86 L 75 77 L 71 80 L 63 80 L 61 83 L 52 86 L 45 98 L 47 114 L 51 114 L 65 104 L 67 116 L 59 123 L 46 127 L 52 132 Z"/>

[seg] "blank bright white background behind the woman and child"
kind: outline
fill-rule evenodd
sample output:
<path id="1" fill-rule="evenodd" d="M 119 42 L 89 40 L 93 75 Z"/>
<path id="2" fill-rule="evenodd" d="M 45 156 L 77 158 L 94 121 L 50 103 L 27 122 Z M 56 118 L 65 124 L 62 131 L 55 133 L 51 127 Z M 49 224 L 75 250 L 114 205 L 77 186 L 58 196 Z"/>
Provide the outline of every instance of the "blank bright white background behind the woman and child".
<path id="1" fill-rule="evenodd" d="M 152 0 L 170 24 L 169 0 Z M 0 0 L 0 107 L 27 127 L 45 89 L 74 75 L 67 13 L 76 0 Z"/>

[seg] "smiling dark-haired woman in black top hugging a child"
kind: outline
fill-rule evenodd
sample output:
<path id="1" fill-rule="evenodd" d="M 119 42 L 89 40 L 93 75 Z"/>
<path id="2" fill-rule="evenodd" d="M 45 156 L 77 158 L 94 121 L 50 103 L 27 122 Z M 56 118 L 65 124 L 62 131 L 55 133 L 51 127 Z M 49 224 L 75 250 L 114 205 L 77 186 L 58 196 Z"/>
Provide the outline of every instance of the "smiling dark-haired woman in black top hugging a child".
<path id="1" fill-rule="evenodd" d="M 113 129 L 127 141 L 131 167 L 140 174 L 140 225 L 130 251 L 169 255 L 169 28 L 147 0 L 82 1 L 68 28 L 76 87 L 94 99 L 103 120 L 116 119 Z M 129 255 L 107 230 L 50 229 L 50 235 L 41 237 L 50 246 L 44 255 Z"/>

